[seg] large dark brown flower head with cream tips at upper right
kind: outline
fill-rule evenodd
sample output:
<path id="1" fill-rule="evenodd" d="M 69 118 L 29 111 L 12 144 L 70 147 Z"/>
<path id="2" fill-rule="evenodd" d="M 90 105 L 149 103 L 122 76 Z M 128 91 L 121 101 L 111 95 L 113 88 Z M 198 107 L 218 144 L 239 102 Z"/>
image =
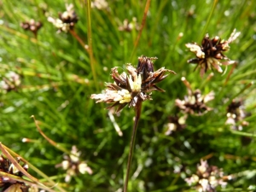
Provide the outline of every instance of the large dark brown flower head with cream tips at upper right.
<path id="1" fill-rule="evenodd" d="M 218 73 L 223 73 L 220 66 L 231 65 L 236 61 L 230 61 L 230 59 L 224 55 L 224 51 L 230 49 L 229 44 L 233 42 L 240 32 L 236 32 L 236 29 L 231 33 L 228 40 L 222 40 L 218 36 L 210 39 L 207 34 L 201 42 L 201 46 L 198 44 L 186 44 L 186 47 L 196 55 L 195 59 L 191 59 L 189 63 L 196 63 L 197 67 L 201 67 L 201 76 L 207 72 L 207 69 L 215 68 Z"/>

